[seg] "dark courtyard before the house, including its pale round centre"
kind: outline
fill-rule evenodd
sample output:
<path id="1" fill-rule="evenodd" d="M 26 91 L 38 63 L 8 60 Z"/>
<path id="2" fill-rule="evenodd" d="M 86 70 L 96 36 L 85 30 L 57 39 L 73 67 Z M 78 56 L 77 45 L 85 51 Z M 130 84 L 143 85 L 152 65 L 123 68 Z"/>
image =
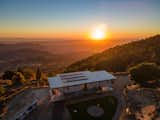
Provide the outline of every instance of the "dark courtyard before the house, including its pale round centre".
<path id="1" fill-rule="evenodd" d="M 67 108 L 71 120 L 112 120 L 117 104 L 115 97 L 105 96 L 69 104 Z"/>

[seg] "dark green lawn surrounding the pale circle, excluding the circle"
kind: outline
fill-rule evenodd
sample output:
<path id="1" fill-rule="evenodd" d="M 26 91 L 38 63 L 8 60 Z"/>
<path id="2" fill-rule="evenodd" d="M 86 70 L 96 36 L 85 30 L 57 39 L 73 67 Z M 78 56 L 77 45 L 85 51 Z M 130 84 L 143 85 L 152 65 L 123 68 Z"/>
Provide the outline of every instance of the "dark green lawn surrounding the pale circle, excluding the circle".
<path id="1" fill-rule="evenodd" d="M 95 118 L 87 113 L 87 108 L 97 104 L 100 104 L 100 107 L 104 110 L 104 114 L 101 117 Z M 112 120 L 117 108 L 117 99 L 113 96 L 106 96 L 71 104 L 67 108 L 71 113 L 72 120 Z M 74 112 L 75 109 L 77 112 Z"/>

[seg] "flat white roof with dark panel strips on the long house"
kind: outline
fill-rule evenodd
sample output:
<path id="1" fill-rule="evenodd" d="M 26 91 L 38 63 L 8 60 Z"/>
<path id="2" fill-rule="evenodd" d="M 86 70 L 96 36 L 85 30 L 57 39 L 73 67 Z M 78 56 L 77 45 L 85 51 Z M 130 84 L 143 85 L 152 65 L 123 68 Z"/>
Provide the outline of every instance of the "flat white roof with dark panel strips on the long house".
<path id="1" fill-rule="evenodd" d="M 48 81 L 50 88 L 61 88 L 112 79 L 116 77 L 106 71 L 82 71 L 58 74 L 56 77 L 49 77 Z"/>

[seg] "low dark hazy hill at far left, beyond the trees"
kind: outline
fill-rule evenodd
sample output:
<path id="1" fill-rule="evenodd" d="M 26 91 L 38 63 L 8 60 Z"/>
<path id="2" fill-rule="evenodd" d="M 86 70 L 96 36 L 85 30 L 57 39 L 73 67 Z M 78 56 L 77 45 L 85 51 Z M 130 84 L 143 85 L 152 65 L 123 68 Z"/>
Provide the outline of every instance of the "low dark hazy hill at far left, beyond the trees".
<path id="1" fill-rule="evenodd" d="M 35 66 L 62 61 L 62 57 L 35 48 L 18 45 L 0 45 L 0 71 L 16 69 L 18 66 Z M 54 65 L 54 64 L 53 64 Z M 56 65 L 54 65 L 56 68 Z"/>

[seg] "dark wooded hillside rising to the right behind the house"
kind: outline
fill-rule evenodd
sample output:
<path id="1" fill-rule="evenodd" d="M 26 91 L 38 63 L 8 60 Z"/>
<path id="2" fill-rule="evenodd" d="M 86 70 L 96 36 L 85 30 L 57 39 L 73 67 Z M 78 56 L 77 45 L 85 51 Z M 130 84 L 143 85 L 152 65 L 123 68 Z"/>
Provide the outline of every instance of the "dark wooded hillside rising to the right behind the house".
<path id="1" fill-rule="evenodd" d="M 116 46 L 102 53 L 82 59 L 70 66 L 65 72 L 81 70 L 101 70 L 123 72 L 141 62 L 160 61 L 160 35 Z"/>

